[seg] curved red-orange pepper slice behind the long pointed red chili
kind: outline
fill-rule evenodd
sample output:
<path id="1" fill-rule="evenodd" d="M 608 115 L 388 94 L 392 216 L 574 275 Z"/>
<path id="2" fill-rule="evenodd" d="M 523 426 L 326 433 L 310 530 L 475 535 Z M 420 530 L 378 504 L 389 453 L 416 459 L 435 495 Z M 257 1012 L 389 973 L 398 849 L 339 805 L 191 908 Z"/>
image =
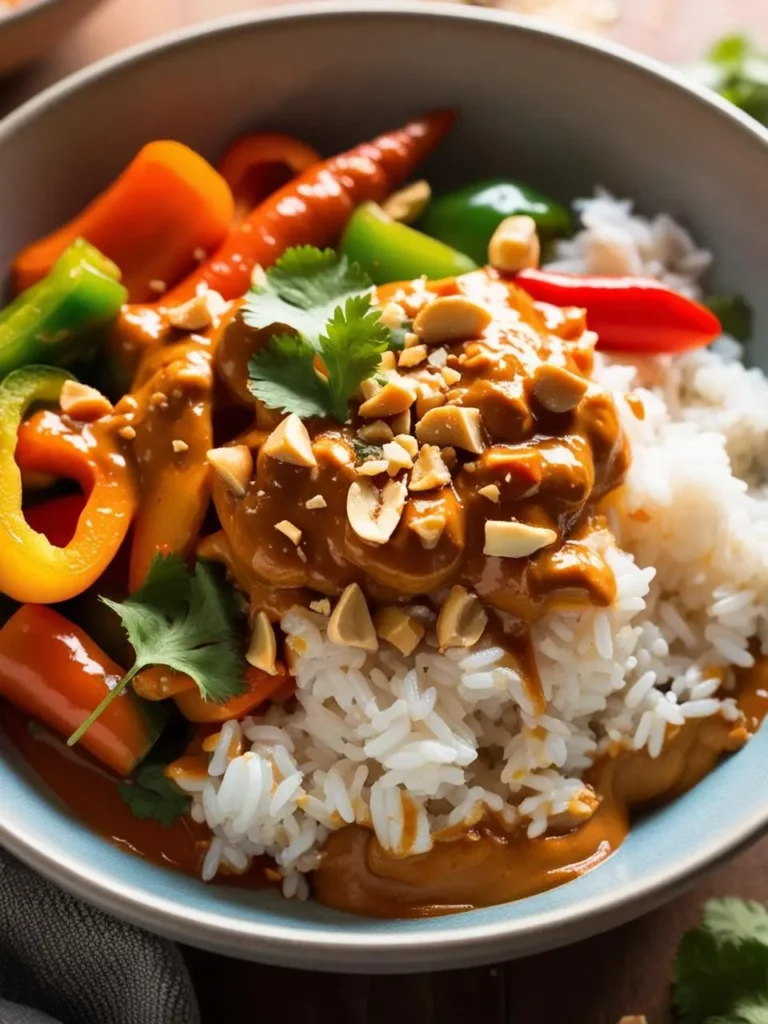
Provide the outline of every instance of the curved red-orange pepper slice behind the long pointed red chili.
<path id="1" fill-rule="evenodd" d="M 273 131 L 241 135 L 216 165 L 232 190 L 236 223 L 276 188 L 319 161 L 316 150 L 292 135 Z"/>

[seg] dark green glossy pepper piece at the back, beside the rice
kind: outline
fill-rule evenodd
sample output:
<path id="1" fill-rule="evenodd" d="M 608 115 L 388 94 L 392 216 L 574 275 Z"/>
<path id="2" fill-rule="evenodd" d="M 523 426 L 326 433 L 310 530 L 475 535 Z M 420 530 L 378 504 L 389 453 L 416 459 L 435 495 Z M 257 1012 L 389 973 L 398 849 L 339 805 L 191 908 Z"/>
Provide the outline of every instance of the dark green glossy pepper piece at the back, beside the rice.
<path id="1" fill-rule="evenodd" d="M 544 239 L 570 234 L 568 210 L 519 181 L 493 178 L 433 199 L 418 221 L 422 231 L 487 262 L 488 242 L 505 217 L 527 214 Z"/>

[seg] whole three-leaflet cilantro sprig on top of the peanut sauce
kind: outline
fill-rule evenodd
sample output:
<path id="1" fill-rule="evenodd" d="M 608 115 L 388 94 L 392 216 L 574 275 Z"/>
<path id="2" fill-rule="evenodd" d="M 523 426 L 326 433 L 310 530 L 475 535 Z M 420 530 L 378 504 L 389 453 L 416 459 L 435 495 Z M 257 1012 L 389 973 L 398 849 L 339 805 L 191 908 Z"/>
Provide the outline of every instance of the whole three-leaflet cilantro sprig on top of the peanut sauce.
<path id="1" fill-rule="evenodd" d="M 368 274 L 332 249 L 288 249 L 246 297 L 249 327 L 293 332 L 278 332 L 253 356 L 251 393 L 268 409 L 344 423 L 349 398 L 390 342 L 371 288 Z"/>

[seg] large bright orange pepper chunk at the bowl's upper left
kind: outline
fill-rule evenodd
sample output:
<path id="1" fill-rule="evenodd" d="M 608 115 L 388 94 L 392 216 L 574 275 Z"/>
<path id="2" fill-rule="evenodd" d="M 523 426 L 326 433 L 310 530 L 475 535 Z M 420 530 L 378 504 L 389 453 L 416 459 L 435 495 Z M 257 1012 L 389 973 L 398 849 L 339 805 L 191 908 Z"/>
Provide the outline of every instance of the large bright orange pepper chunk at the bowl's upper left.
<path id="1" fill-rule="evenodd" d="M 148 142 L 123 173 L 69 223 L 27 246 L 13 262 L 22 292 L 44 278 L 78 238 L 87 239 L 123 272 L 131 302 L 158 297 L 215 250 L 234 211 L 229 186 L 181 142 Z"/>

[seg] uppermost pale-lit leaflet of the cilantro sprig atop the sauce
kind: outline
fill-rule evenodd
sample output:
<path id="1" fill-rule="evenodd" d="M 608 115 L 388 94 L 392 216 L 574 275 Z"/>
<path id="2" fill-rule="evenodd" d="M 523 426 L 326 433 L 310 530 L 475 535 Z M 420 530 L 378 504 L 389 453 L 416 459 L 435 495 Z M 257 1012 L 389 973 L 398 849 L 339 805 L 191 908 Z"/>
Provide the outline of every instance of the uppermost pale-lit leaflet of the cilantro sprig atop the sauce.
<path id="1" fill-rule="evenodd" d="M 316 348 L 337 306 L 371 287 L 359 265 L 333 249 L 299 246 L 286 250 L 266 271 L 265 284 L 251 289 L 243 319 L 253 328 L 285 324 Z"/>

